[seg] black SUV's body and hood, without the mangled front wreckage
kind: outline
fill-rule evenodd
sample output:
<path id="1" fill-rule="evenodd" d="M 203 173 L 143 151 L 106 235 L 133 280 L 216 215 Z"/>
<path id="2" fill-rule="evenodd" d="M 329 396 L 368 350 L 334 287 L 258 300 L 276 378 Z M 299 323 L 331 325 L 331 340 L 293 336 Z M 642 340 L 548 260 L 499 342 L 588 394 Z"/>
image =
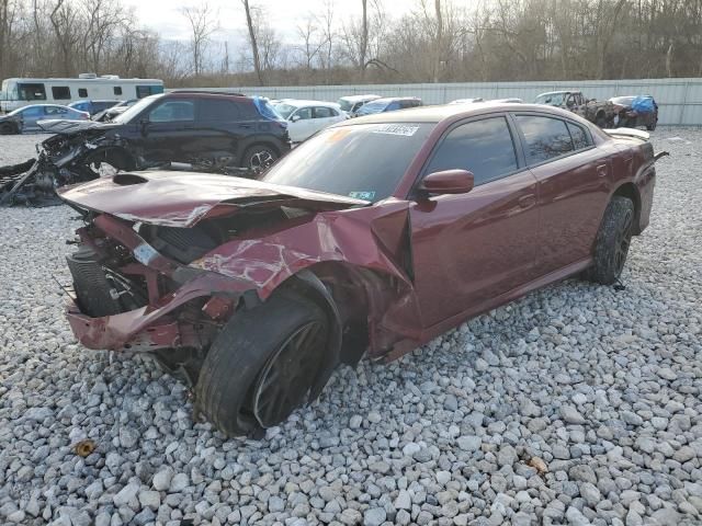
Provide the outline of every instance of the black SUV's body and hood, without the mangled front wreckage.
<path id="1" fill-rule="evenodd" d="M 66 140 L 99 142 L 93 162 L 143 170 L 167 162 L 258 169 L 290 151 L 287 124 L 259 98 L 174 91 L 141 99 L 109 123 L 43 122 Z"/>

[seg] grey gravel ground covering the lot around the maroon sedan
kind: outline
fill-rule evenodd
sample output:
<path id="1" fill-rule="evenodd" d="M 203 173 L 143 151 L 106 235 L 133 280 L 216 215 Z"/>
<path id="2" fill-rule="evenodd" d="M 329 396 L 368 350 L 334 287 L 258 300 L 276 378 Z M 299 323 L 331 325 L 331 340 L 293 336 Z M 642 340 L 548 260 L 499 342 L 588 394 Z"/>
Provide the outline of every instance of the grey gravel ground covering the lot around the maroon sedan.
<path id="1" fill-rule="evenodd" d="M 0 137 L 0 162 L 39 138 Z M 702 130 L 654 142 L 672 157 L 625 290 L 570 279 L 342 368 L 261 442 L 193 423 L 147 358 L 77 345 L 52 277 L 75 214 L 0 209 L 0 523 L 700 524 Z"/>

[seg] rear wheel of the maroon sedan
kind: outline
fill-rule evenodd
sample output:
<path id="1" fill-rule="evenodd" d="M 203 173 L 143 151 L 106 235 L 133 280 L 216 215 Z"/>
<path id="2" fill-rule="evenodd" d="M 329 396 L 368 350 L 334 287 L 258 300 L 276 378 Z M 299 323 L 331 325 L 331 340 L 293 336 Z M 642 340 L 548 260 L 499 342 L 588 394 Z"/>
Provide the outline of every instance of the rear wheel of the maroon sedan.
<path id="1" fill-rule="evenodd" d="M 626 262 L 634 225 L 634 204 L 615 195 L 604 210 L 595 240 L 595 262 L 585 273 L 586 279 L 612 285 L 619 279 Z"/>

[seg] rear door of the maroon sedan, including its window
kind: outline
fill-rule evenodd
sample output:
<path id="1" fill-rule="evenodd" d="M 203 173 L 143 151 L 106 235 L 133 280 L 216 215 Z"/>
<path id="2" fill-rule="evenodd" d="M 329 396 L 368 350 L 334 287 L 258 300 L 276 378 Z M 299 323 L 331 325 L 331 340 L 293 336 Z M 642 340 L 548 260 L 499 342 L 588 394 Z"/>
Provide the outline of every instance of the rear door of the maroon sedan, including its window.
<path id="1" fill-rule="evenodd" d="M 541 275 L 589 258 L 610 187 L 610 161 L 586 126 L 516 114 L 526 164 L 539 181 Z"/>

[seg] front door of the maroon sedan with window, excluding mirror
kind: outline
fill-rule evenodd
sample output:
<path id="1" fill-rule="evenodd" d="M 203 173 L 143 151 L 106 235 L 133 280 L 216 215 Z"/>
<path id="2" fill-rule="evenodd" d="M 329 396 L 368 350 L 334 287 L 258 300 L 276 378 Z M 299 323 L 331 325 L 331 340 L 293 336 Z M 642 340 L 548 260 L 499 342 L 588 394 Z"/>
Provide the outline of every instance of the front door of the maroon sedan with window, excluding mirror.
<path id="1" fill-rule="evenodd" d="M 535 275 L 536 179 L 506 114 L 462 123 L 444 135 L 422 171 L 464 169 L 475 178 L 466 194 L 418 199 L 410 207 L 424 328 L 485 310 Z"/>

